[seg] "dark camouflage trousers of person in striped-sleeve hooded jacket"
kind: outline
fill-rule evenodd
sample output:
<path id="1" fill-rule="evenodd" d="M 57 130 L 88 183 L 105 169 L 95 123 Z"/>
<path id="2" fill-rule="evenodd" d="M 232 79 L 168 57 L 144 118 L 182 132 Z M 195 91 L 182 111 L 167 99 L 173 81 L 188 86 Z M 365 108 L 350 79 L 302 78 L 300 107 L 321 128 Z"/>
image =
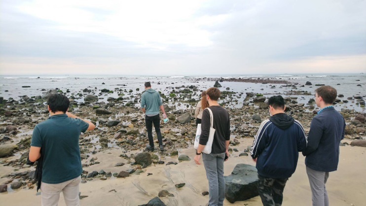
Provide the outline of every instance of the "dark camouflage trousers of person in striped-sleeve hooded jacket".
<path id="1" fill-rule="evenodd" d="M 289 178 L 270 178 L 258 174 L 258 192 L 263 206 L 281 206 L 284 188 Z"/>

